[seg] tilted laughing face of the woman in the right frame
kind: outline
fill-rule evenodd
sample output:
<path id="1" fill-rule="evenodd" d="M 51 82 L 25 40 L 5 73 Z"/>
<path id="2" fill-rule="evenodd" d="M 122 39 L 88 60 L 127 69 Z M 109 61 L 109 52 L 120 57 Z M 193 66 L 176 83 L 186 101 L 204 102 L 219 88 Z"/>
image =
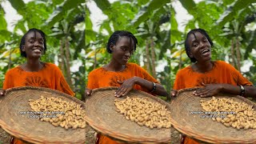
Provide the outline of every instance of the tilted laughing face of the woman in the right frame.
<path id="1" fill-rule="evenodd" d="M 211 58 L 210 42 L 200 32 L 190 34 L 189 39 L 190 58 L 196 58 L 198 62 L 209 61 Z"/>

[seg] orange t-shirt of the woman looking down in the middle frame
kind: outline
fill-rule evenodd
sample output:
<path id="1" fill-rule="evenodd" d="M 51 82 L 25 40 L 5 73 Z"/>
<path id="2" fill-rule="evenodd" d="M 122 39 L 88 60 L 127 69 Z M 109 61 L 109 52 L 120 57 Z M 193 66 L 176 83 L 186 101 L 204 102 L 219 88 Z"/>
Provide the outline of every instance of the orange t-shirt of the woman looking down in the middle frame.
<path id="1" fill-rule="evenodd" d="M 159 83 L 155 78 L 153 78 L 150 74 L 146 72 L 142 67 L 138 66 L 135 63 L 127 63 L 126 69 L 114 72 L 108 71 L 103 67 L 95 69 L 90 72 L 88 76 L 88 85 L 87 88 L 89 89 L 96 89 L 101 87 L 107 86 L 121 86 L 117 81 L 124 81 L 129 78 L 133 78 L 134 76 L 144 78 L 150 82 Z M 148 90 L 143 89 L 139 85 L 134 86 L 135 90 L 143 90 L 149 93 Z M 104 135 L 100 135 L 98 139 L 99 144 L 118 144 L 120 142 L 116 142 Z"/>

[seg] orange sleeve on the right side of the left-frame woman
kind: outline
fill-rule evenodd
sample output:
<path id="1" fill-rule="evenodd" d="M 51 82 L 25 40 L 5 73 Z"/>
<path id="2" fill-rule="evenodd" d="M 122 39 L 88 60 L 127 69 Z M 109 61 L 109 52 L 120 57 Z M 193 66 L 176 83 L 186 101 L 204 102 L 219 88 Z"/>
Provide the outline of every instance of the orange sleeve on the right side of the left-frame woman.
<path id="1" fill-rule="evenodd" d="M 54 65 L 55 66 L 55 65 Z M 64 78 L 62 71 L 59 70 L 58 66 L 55 66 L 55 77 L 56 80 L 56 90 L 62 91 L 63 93 L 69 94 L 74 96 L 73 90 L 70 89 L 69 84 L 66 82 L 66 79 Z"/>

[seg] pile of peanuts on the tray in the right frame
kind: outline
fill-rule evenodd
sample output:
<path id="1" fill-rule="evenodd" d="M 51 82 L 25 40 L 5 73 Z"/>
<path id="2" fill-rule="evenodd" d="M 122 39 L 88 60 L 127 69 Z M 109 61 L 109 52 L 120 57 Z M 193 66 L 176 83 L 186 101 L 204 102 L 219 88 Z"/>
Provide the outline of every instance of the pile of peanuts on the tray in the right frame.
<path id="1" fill-rule="evenodd" d="M 256 129 L 256 111 L 245 102 L 235 102 L 234 98 L 212 98 L 210 101 L 201 100 L 203 110 L 218 112 L 232 112 L 225 117 L 212 118 L 214 121 L 222 122 L 225 126 L 239 129 Z M 225 114 L 225 113 L 224 113 Z M 219 116 L 219 115 L 218 115 Z"/>

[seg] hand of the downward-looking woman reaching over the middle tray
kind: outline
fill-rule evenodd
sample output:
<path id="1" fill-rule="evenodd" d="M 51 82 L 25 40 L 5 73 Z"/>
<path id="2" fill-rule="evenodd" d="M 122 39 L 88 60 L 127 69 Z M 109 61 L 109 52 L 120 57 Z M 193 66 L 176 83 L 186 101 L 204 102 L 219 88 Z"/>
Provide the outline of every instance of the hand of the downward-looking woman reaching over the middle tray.
<path id="1" fill-rule="evenodd" d="M 122 82 L 118 81 L 118 83 L 120 83 L 121 86 L 119 86 L 118 90 L 115 91 L 114 96 L 122 97 L 128 94 L 130 90 L 133 90 L 137 80 L 138 80 L 138 77 L 133 77 L 133 78 L 126 79 L 125 81 L 122 81 Z"/>

